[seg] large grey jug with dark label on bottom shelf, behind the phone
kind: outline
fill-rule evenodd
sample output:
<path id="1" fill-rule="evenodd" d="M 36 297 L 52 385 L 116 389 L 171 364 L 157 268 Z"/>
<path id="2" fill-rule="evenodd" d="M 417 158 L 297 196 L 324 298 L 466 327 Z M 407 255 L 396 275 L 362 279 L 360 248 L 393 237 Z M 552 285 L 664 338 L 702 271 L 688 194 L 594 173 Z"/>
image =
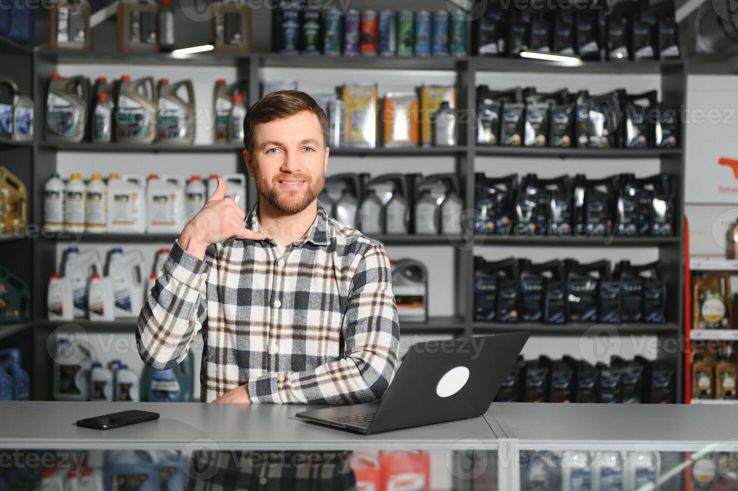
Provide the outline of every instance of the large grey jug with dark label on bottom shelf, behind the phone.
<path id="1" fill-rule="evenodd" d="M 54 399 L 89 401 L 89 374 L 94 354 L 87 343 L 58 337 L 54 353 Z"/>

